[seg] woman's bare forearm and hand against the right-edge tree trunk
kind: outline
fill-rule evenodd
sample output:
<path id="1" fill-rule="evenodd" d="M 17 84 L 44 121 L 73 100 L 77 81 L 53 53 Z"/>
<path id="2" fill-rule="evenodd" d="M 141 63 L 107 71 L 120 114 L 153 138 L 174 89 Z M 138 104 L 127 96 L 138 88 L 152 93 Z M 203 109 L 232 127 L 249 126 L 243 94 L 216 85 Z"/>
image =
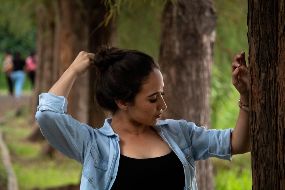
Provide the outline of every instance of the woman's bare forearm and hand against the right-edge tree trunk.
<path id="1" fill-rule="evenodd" d="M 249 63 L 249 62 L 248 62 Z M 232 63 L 232 83 L 240 93 L 240 103 L 243 108 L 249 108 L 249 67 L 245 61 L 245 52 L 235 56 L 235 62 Z M 243 154 L 250 151 L 249 139 L 249 112 L 240 109 L 237 123 L 231 136 L 231 153 Z"/>

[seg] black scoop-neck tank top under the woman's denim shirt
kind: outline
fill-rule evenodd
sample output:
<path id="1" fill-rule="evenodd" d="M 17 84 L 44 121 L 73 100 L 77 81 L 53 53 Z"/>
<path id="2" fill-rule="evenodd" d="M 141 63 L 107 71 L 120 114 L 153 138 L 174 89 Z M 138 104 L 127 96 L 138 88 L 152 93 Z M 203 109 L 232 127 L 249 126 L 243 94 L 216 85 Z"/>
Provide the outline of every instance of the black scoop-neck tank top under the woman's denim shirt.
<path id="1" fill-rule="evenodd" d="M 183 165 L 173 151 L 147 159 L 120 155 L 118 173 L 111 190 L 182 190 L 184 178 Z"/>

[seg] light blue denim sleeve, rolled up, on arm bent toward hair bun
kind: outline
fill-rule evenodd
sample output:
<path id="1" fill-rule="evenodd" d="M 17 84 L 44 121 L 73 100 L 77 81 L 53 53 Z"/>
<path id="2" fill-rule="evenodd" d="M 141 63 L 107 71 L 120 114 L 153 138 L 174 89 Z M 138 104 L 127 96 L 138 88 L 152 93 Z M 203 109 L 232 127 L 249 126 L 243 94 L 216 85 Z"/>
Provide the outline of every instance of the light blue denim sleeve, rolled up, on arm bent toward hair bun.
<path id="1" fill-rule="evenodd" d="M 68 158 L 84 162 L 84 147 L 90 139 L 91 127 L 65 114 L 68 101 L 63 96 L 42 93 L 35 119 L 49 144 Z"/>

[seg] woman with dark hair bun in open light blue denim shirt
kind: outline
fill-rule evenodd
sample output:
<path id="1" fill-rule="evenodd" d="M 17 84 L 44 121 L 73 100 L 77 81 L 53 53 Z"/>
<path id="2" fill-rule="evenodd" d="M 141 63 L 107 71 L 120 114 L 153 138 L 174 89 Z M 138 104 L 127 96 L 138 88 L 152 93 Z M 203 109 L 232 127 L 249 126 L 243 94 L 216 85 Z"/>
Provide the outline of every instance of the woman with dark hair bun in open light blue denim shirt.
<path id="1" fill-rule="evenodd" d="M 249 152 L 245 52 L 232 64 L 233 84 L 243 108 L 234 130 L 205 130 L 185 120 L 159 120 L 166 109 L 164 83 L 153 58 L 115 47 L 99 47 L 94 56 L 80 52 L 50 91 L 40 95 L 35 116 L 48 142 L 83 165 L 80 189 L 197 189 L 196 160 L 231 160 L 233 154 Z M 74 80 L 92 67 L 98 75 L 97 103 L 113 116 L 100 129 L 65 114 Z"/>

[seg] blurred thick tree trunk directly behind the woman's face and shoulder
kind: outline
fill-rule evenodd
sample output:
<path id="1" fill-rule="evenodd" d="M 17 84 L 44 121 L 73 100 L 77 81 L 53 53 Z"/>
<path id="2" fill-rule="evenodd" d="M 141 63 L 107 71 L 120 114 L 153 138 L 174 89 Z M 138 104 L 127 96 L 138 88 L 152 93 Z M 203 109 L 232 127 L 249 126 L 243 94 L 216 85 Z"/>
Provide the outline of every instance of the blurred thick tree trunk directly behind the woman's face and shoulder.
<path id="1" fill-rule="evenodd" d="M 159 63 L 169 109 L 163 119 L 185 119 L 210 128 L 210 87 L 215 41 L 213 0 L 168 1 L 162 17 Z M 214 189 L 211 159 L 196 162 L 199 189 Z"/>

